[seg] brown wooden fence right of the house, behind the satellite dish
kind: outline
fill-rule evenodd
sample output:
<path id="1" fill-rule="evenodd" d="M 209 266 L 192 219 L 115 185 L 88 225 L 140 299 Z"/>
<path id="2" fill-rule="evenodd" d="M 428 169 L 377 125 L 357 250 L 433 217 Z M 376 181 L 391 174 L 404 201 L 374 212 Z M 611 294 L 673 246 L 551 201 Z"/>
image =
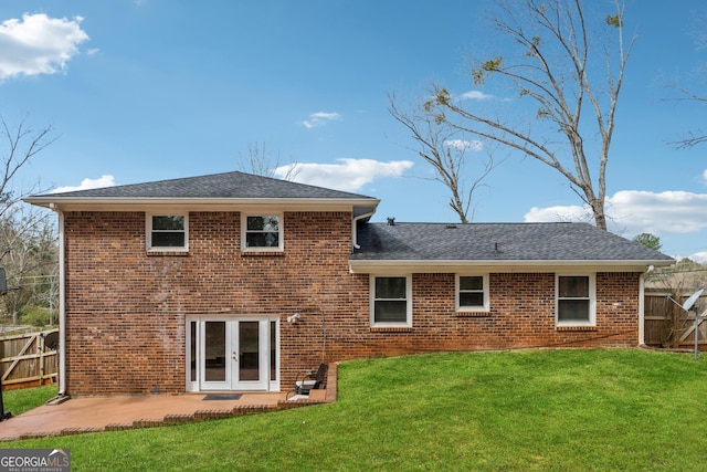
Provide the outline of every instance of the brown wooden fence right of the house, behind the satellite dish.
<path id="1" fill-rule="evenodd" d="M 644 340 L 648 346 L 692 348 L 695 346 L 695 314 L 701 315 L 707 306 L 707 294 L 695 303 L 697 311 L 685 313 L 680 305 L 688 295 L 671 300 L 669 293 L 645 294 Z M 707 350 L 707 322 L 698 325 L 700 350 Z"/>

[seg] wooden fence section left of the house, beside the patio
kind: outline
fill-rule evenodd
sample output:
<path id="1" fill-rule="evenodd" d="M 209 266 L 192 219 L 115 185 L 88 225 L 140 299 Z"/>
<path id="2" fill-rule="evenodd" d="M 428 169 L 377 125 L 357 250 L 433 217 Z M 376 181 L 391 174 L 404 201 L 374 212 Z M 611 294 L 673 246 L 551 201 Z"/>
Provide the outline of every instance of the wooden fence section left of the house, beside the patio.
<path id="1" fill-rule="evenodd" d="M 0 339 L 2 388 L 39 387 L 56 382 L 59 329 Z"/>

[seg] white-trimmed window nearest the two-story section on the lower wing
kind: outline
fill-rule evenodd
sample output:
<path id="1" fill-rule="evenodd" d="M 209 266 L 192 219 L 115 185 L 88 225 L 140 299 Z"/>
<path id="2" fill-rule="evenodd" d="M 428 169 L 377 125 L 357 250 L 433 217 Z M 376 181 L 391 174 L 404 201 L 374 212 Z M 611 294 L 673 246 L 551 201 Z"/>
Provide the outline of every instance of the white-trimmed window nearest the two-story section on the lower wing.
<path id="1" fill-rule="evenodd" d="M 371 276 L 371 326 L 412 326 L 412 281 Z"/>

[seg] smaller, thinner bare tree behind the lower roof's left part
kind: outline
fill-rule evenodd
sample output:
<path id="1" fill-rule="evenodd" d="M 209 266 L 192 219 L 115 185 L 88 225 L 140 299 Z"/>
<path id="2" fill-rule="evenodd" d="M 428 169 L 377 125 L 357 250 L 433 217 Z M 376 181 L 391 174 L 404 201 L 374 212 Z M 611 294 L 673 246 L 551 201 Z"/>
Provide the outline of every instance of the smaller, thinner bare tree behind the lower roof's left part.
<path id="1" fill-rule="evenodd" d="M 433 122 L 426 114 L 403 113 L 398 108 L 395 96 L 390 95 L 389 98 L 390 114 L 410 130 L 412 138 L 420 145 L 416 153 L 434 168 L 435 179 L 450 189 L 450 208 L 462 223 L 472 222 L 475 209 L 474 193 L 495 167 L 492 153 L 477 159 L 481 171 L 469 177 L 465 171 L 471 164 L 467 155 L 471 148 L 483 147 L 481 141 L 464 139 L 461 132 L 446 126 L 445 123 Z"/>

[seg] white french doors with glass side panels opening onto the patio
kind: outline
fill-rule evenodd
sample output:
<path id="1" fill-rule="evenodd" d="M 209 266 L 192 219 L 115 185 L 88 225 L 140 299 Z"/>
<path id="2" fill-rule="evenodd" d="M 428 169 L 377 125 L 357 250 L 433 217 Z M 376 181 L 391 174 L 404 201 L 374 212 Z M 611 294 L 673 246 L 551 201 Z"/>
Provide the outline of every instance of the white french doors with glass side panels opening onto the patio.
<path id="1" fill-rule="evenodd" d="M 187 389 L 278 390 L 278 318 L 187 322 Z"/>

